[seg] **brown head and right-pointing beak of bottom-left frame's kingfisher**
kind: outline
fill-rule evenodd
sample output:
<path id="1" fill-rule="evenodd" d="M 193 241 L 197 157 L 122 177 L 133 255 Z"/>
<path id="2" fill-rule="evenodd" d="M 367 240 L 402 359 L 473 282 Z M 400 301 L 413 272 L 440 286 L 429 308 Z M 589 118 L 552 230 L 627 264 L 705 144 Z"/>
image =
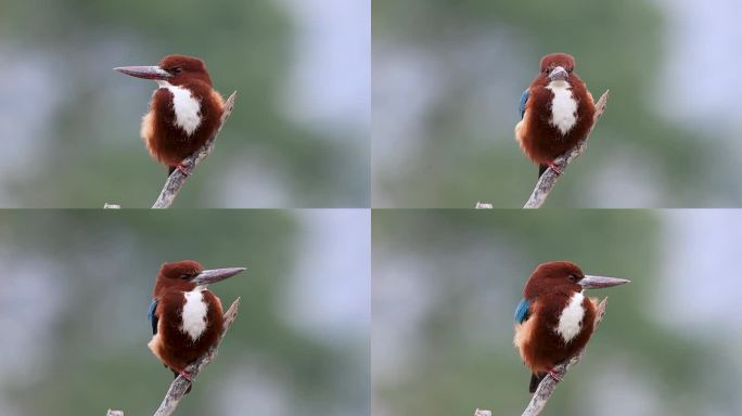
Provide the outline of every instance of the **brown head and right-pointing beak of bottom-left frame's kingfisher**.
<path id="1" fill-rule="evenodd" d="M 243 271 L 245 271 L 245 268 L 204 270 L 199 262 L 191 260 L 165 263 L 159 268 L 155 291 L 166 288 L 191 291 L 196 286 L 217 283 Z"/>

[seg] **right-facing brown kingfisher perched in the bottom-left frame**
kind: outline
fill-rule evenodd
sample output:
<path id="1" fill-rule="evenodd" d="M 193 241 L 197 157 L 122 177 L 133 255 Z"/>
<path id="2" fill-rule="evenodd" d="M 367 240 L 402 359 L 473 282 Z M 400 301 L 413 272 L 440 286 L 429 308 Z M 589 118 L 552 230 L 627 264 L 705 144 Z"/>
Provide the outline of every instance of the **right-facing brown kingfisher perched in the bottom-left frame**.
<path id="1" fill-rule="evenodd" d="M 181 375 L 191 381 L 186 367 L 216 344 L 221 335 L 221 300 L 207 286 L 244 270 L 204 270 L 191 260 L 159 268 L 148 313 L 152 324 L 148 347 L 176 378 Z"/>

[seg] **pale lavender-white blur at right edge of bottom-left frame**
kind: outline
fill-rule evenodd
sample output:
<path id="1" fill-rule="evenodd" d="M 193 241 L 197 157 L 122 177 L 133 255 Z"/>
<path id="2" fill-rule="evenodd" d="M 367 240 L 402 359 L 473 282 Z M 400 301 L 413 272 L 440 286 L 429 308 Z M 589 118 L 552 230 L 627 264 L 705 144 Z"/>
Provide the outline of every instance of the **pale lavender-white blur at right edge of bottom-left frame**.
<path id="1" fill-rule="evenodd" d="M 304 212 L 305 238 L 284 318 L 317 341 L 366 342 L 371 321 L 371 214 Z M 349 338 L 350 336 L 350 338 Z"/>

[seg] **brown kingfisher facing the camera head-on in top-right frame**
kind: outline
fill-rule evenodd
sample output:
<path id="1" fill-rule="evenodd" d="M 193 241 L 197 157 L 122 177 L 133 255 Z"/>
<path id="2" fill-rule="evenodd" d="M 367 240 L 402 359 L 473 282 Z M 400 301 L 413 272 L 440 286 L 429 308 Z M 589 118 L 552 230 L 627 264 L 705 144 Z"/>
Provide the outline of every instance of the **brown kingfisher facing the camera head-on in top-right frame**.
<path id="1" fill-rule="evenodd" d="M 515 140 L 538 165 L 539 178 L 547 168 L 562 173 L 554 159 L 585 139 L 593 122 L 596 103 L 574 70 L 572 55 L 546 55 L 538 76 L 521 95 Z"/>

